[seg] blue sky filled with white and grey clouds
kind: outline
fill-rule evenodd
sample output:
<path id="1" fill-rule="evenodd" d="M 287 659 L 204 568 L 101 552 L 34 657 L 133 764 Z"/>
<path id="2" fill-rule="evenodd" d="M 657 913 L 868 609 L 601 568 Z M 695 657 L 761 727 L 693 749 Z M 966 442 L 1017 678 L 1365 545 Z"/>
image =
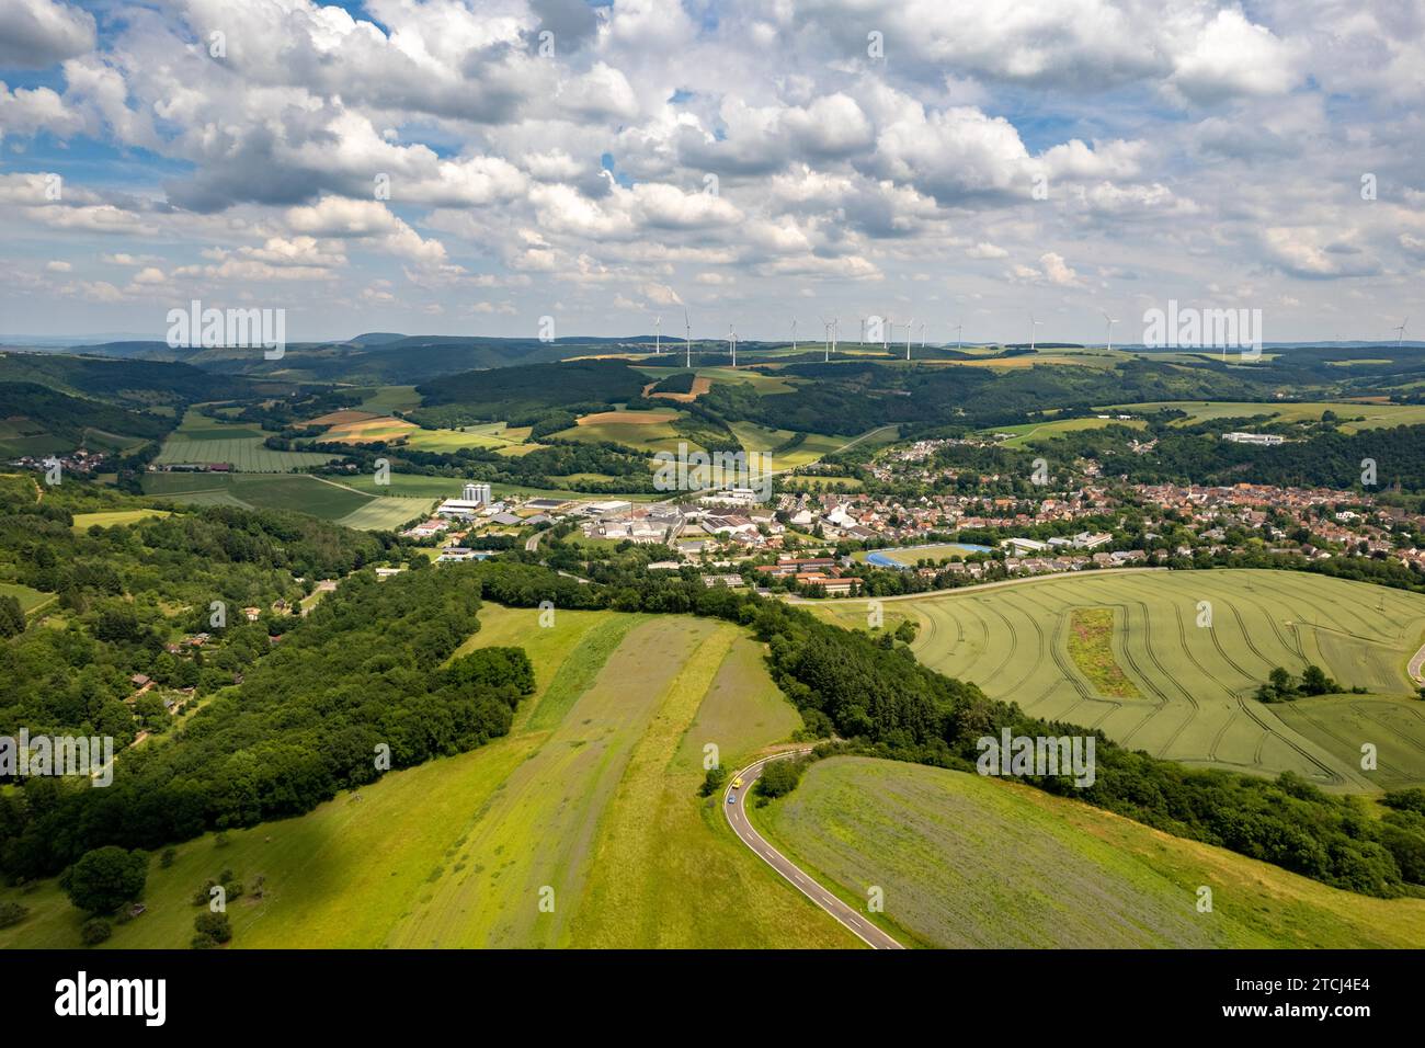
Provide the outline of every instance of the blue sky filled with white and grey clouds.
<path id="1" fill-rule="evenodd" d="M 0 0 L 0 337 L 1419 338 L 1422 70 L 1425 0 Z"/>

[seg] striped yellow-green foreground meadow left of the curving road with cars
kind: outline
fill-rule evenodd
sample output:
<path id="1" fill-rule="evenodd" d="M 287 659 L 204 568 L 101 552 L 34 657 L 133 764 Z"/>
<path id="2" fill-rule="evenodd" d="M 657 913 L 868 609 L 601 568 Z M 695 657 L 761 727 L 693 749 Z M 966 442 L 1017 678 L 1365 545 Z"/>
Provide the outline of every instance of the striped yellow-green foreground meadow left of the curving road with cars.
<path id="1" fill-rule="evenodd" d="M 265 877 L 264 898 L 229 905 L 238 948 L 855 945 L 697 796 L 705 736 L 728 763 L 799 723 L 737 626 L 559 612 L 544 630 L 537 610 L 493 605 L 479 617 L 469 646 L 517 640 L 536 664 L 510 736 L 228 831 L 225 847 L 178 846 L 171 868 L 150 867 L 148 911 L 105 947 L 184 947 L 190 895 L 224 867 Z M 0 948 L 78 944 L 54 880 L 0 900 L 31 910 Z"/>

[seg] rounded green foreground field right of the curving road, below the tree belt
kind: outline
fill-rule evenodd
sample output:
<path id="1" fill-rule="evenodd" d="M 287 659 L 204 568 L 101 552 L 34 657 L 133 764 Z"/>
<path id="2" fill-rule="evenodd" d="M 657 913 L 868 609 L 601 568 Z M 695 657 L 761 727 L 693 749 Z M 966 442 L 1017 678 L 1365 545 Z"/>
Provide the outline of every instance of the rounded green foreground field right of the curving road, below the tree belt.
<path id="1" fill-rule="evenodd" d="M 754 808 L 768 838 L 902 942 L 949 948 L 1418 947 L 1425 900 L 1367 898 L 1032 787 L 818 761 Z M 1196 910 L 1198 885 L 1213 911 Z"/>

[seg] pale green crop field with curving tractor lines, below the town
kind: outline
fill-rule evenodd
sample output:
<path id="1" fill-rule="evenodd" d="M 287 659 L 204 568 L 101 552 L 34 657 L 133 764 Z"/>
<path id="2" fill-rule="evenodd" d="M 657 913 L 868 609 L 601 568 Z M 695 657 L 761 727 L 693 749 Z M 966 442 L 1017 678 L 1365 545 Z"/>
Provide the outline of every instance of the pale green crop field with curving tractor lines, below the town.
<path id="1" fill-rule="evenodd" d="M 812 607 L 865 627 L 864 600 L 834 603 Z M 892 609 L 919 620 L 926 666 L 1159 757 L 1290 770 L 1338 790 L 1425 783 L 1425 703 L 1405 677 L 1425 640 L 1425 596 L 1301 572 L 1086 572 L 884 607 L 888 626 Z M 1096 607 L 1113 610 L 1113 662 L 1141 699 L 1104 694 L 1074 664 L 1073 612 Z M 1204 610 L 1210 627 L 1197 625 Z M 1371 694 L 1301 710 L 1253 697 L 1273 667 L 1307 663 Z M 1379 749 L 1377 771 L 1359 767 L 1364 743 Z"/>

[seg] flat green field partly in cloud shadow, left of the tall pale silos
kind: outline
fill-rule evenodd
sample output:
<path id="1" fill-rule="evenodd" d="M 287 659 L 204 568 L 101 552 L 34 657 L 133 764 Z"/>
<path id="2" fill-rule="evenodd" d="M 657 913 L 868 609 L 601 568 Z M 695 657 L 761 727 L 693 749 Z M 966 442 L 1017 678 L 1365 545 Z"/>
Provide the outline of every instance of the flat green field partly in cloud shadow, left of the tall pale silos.
<path id="1" fill-rule="evenodd" d="M 446 490 L 449 486 L 446 482 Z M 147 473 L 144 493 L 190 506 L 289 509 L 363 530 L 399 528 L 435 505 L 430 495 L 375 485 L 368 493 L 345 479 L 338 483 L 309 473 Z"/>

